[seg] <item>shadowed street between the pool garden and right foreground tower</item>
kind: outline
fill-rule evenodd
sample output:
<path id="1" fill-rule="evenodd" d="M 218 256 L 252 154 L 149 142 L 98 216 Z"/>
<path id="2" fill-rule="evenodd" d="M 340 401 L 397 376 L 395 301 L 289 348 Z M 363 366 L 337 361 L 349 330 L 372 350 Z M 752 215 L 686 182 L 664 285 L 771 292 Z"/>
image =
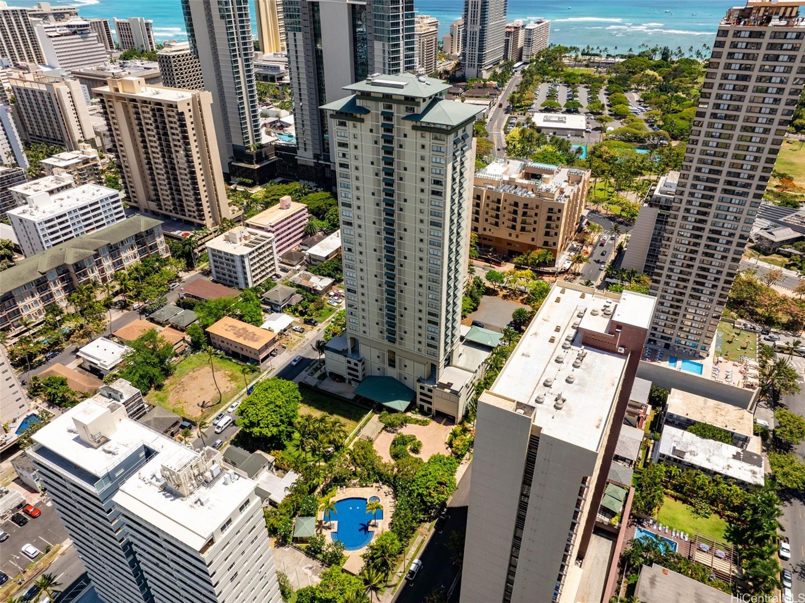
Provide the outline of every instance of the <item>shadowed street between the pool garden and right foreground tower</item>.
<path id="1" fill-rule="evenodd" d="M 458 482 L 456 492 L 448 502 L 450 518 L 444 522 L 441 532 L 434 532 L 427 547 L 419 551 L 422 569 L 415 580 L 403 584 L 397 591 L 397 603 L 422 603 L 432 591 L 444 587 L 448 591 L 460 571 L 453 562 L 454 553 L 448 547 L 451 533 L 463 533 L 467 527 L 467 505 L 469 504 L 469 481 L 473 470 L 472 461 L 464 477 Z M 461 541 L 463 542 L 463 537 Z M 459 586 L 451 593 L 450 601 L 458 601 Z"/>

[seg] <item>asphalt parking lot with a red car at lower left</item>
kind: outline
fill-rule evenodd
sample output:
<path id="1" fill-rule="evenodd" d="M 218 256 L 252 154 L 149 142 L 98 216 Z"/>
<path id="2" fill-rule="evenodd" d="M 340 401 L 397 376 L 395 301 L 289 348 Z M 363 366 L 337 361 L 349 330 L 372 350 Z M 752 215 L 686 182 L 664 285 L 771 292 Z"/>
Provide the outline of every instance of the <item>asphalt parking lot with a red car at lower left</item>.
<path id="1" fill-rule="evenodd" d="M 24 526 L 18 526 L 10 520 L 0 524 L 0 529 L 8 534 L 8 539 L 0 544 L 0 571 L 12 578 L 19 574 L 21 568 L 34 562 L 23 555 L 20 550 L 23 545 L 33 544 L 44 553 L 48 545 L 61 543 L 68 537 L 52 502 L 39 504 L 37 508 L 42 514 L 37 518 L 26 515 L 28 522 Z"/>

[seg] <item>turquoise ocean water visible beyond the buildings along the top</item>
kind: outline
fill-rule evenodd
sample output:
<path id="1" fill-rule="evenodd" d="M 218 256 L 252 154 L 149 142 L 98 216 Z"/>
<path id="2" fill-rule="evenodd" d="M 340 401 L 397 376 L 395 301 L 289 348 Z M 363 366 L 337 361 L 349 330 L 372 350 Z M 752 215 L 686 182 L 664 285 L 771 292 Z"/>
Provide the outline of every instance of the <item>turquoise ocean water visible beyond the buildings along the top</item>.
<path id="1" fill-rule="evenodd" d="M 36 0 L 12 0 L 16 6 L 32 6 Z M 155 38 L 187 39 L 179 0 L 51 0 L 52 4 L 79 6 L 86 18 L 130 16 L 154 21 Z M 609 48 L 609 52 L 635 52 L 642 43 L 649 46 L 712 46 L 716 28 L 734 0 L 564 0 L 540 2 L 509 0 L 508 19 L 544 17 L 551 20 L 551 42 L 567 46 Z M 439 19 L 440 36 L 448 33 L 450 23 L 459 19 L 463 0 L 415 0 L 419 14 Z M 665 12 L 669 10 L 669 12 Z M 254 23 L 254 11 L 252 11 Z M 254 27 L 254 24 L 253 24 Z"/>

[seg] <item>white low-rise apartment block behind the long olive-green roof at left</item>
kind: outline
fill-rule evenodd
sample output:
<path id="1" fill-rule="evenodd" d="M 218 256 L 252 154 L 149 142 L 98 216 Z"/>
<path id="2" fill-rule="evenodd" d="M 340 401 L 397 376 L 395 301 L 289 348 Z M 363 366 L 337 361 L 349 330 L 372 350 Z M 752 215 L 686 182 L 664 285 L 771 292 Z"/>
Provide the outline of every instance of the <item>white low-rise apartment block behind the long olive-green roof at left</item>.
<path id="1" fill-rule="evenodd" d="M 14 191 L 26 187 L 22 184 Z M 120 192 L 98 184 L 81 184 L 54 195 L 33 193 L 27 204 L 6 215 L 26 257 L 126 219 Z"/>

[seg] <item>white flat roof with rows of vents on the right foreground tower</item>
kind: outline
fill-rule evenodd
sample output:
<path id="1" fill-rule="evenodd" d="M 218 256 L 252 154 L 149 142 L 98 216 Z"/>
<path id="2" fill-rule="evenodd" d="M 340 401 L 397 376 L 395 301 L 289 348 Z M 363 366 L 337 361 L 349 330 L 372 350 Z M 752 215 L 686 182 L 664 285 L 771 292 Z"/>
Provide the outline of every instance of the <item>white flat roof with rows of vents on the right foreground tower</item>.
<path id="1" fill-rule="evenodd" d="M 589 346 L 582 349 L 580 323 L 592 309 L 601 314 L 605 303 L 612 305 L 619 297 L 592 291 L 561 281 L 551 287 L 489 391 L 535 406 L 532 421 L 547 436 L 597 451 L 620 391 L 627 357 Z M 609 317 L 593 318 L 601 320 L 587 328 L 605 332 Z M 576 369 L 573 362 L 583 352 Z M 567 381 L 570 375 L 572 383 Z M 558 397 L 565 400 L 560 409 L 554 407 Z"/>

